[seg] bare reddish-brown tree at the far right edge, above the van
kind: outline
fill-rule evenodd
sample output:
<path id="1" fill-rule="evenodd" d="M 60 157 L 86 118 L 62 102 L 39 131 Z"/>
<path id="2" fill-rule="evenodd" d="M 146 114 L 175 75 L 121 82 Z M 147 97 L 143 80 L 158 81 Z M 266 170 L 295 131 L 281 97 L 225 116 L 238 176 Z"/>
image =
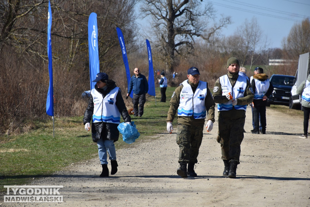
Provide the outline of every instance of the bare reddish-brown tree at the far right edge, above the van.
<path id="1" fill-rule="evenodd" d="M 288 37 L 282 42 L 283 49 L 290 59 L 298 60 L 299 55 L 310 52 L 310 20 L 306 18 L 301 24 L 295 24 Z"/>

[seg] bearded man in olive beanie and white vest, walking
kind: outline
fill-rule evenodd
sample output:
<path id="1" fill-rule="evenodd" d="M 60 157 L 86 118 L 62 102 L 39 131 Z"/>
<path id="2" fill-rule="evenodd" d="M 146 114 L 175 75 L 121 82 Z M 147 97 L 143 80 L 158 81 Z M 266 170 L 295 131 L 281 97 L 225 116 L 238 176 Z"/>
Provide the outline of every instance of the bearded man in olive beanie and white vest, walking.
<path id="1" fill-rule="evenodd" d="M 223 176 L 236 178 L 240 164 L 241 142 L 244 137 L 246 105 L 253 101 L 250 82 L 239 75 L 239 60 L 231 57 L 227 61 L 228 73 L 216 80 L 213 98 L 218 103 L 219 131 L 217 142 L 221 144 L 224 161 Z"/>

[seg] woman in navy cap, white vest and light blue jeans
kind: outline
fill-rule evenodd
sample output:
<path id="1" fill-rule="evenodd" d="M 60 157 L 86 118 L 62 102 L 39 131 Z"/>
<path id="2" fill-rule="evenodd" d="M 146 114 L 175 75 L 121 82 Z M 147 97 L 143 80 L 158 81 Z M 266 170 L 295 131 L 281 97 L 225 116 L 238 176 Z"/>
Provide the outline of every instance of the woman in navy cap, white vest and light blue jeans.
<path id="1" fill-rule="evenodd" d="M 100 177 L 108 177 L 108 161 L 111 160 L 111 175 L 117 172 L 116 151 L 114 142 L 118 140 L 118 124 L 121 115 L 126 124 L 131 125 L 131 117 L 122 97 L 121 89 L 118 88 L 113 80 L 108 79 L 106 73 L 98 73 L 95 88 L 91 90 L 91 96 L 86 108 L 83 123 L 86 131 L 89 131 L 91 123 L 91 137 L 93 142 L 97 142 L 98 155 L 102 166 Z"/>

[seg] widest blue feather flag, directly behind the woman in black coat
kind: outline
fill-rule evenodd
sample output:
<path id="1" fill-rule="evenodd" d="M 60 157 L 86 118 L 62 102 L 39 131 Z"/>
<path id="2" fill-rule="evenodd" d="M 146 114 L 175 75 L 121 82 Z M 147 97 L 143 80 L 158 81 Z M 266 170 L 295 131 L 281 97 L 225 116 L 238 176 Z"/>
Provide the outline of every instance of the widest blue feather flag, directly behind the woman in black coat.
<path id="1" fill-rule="evenodd" d="M 97 14 L 92 12 L 88 18 L 88 53 L 89 53 L 89 77 L 91 89 L 95 88 L 92 81 L 99 73 L 99 52 L 98 52 L 98 27 Z"/>

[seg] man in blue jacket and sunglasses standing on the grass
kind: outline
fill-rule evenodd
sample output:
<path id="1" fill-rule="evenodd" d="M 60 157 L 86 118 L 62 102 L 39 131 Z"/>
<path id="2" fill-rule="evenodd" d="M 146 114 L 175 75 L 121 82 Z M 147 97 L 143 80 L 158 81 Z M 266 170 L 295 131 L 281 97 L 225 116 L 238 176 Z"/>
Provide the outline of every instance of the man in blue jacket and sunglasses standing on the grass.
<path id="1" fill-rule="evenodd" d="M 132 98 L 134 116 L 141 117 L 143 115 L 144 103 L 146 101 L 145 94 L 148 92 L 148 81 L 144 75 L 140 74 L 139 68 L 135 68 L 134 75 L 130 79 L 127 97 L 131 91 L 134 93 Z"/>

